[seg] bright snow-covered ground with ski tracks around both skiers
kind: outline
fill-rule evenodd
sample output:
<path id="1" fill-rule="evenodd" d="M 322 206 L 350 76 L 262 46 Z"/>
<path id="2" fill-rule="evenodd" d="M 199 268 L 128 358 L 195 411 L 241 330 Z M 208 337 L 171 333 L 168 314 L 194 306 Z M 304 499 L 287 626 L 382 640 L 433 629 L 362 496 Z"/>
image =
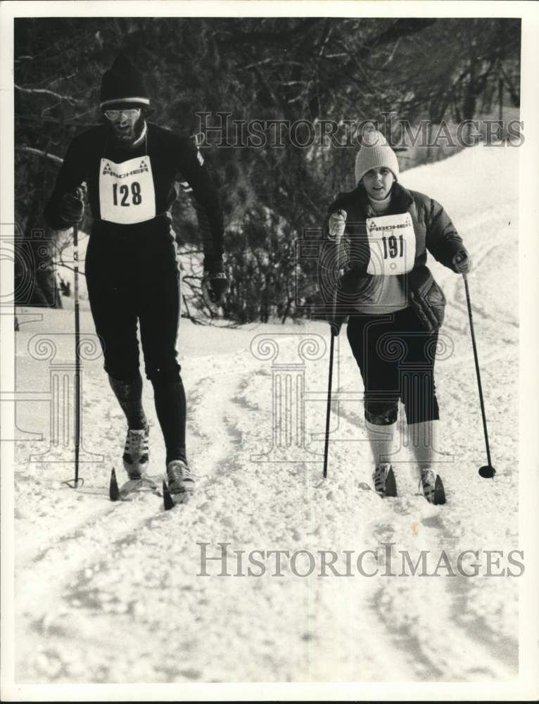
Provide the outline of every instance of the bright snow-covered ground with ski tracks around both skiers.
<path id="1" fill-rule="evenodd" d="M 165 513 L 153 494 L 108 501 L 110 467 L 121 465 L 125 427 L 100 359 L 84 367 L 83 438 L 86 450 L 101 453 L 103 461 L 82 465 L 84 487 L 72 491 L 61 484 L 70 476 L 69 463 L 28 461 L 44 443 L 18 443 L 18 681 L 516 677 L 518 579 L 486 577 L 482 552 L 503 551 L 494 570 L 500 572 L 507 570 L 507 554 L 519 548 L 516 172 L 516 150 L 478 147 L 402 175 L 406 186 L 443 203 L 474 256 L 469 280 L 496 479 L 486 482 L 477 474 L 485 453 L 462 279 L 432 260 L 448 298 L 448 352 L 437 362 L 445 461 L 440 473 L 448 494 L 443 507 L 429 505 L 419 493 L 406 451 L 397 465 L 400 496 L 382 500 L 369 490 L 362 387 L 343 334 L 336 376 L 343 400 L 334 404 L 329 476 L 323 481 L 326 326 L 220 330 L 182 321 L 189 455 L 198 475 L 191 503 Z M 35 334 L 57 333 L 56 360 L 71 359 L 72 339 L 60 337 L 70 325 L 67 318 L 69 311 L 46 311 L 41 323 L 23 322 L 18 390 L 48 388 L 48 365 L 27 353 Z M 82 327 L 93 332 L 88 313 Z M 278 358 L 264 358 L 260 336 L 278 346 Z M 279 387 L 284 406 L 280 416 L 272 415 L 274 384 L 286 375 L 303 379 L 305 448 L 294 446 L 298 436 L 291 432 L 298 410 L 293 383 Z M 164 449 L 148 386 L 151 473 L 158 474 Z M 20 403 L 18 426 L 46 435 L 47 413 L 45 403 Z M 268 455 L 279 429 L 281 446 Z M 274 461 L 260 461 L 262 455 Z M 230 576 L 217 576 L 215 560 L 206 563 L 209 576 L 202 576 L 198 543 L 208 543 L 211 557 L 220 554 L 218 543 L 229 543 Z M 234 551 L 244 551 L 241 565 Z M 248 577 L 252 551 L 307 551 L 317 560 L 319 551 L 334 551 L 340 574 L 347 572 L 348 551 L 352 576 L 326 570 L 321 577 L 317 562 L 310 576 L 299 577 L 294 572 L 309 567 L 303 553 L 296 555 L 294 570 L 283 558 L 281 577 L 274 576 L 274 555 L 262 560 L 264 574 Z M 445 551 L 456 573 L 449 576 L 442 567 L 438 577 L 399 576 L 402 552 L 417 562 L 421 551 L 428 551 L 429 572 Z M 469 572 L 473 562 L 482 565 L 478 577 L 455 570 L 464 551 L 479 551 L 478 558 L 464 559 Z M 365 574 L 355 567 L 362 552 Z"/>

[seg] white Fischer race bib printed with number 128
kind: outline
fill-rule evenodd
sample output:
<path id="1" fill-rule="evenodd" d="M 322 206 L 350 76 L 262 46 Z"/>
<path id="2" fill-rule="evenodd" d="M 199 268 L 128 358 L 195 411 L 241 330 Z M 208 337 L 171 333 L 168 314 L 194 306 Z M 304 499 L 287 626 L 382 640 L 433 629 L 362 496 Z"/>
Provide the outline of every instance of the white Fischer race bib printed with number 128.
<path id="1" fill-rule="evenodd" d="M 101 220 L 133 225 L 156 217 L 156 191 L 149 156 L 115 164 L 101 159 L 99 171 Z"/>

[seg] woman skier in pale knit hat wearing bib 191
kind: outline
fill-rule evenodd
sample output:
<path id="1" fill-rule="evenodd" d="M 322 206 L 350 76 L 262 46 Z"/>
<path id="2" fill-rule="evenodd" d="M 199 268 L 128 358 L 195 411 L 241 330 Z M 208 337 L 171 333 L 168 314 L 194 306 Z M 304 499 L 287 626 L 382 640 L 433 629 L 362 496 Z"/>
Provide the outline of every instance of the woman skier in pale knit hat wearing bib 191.
<path id="1" fill-rule="evenodd" d="M 391 455 L 401 400 L 419 479 L 431 503 L 445 503 L 436 472 L 440 415 L 434 384 L 438 329 L 445 297 L 426 253 L 455 272 L 471 261 L 448 215 L 433 199 L 398 182 L 397 156 L 380 132 L 368 132 L 355 160 L 356 187 L 329 208 L 329 233 L 340 241 L 343 268 L 338 334 L 348 341 L 364 384 L 364 417 L 374 458 L 374 488 L 396 496 Z"/>

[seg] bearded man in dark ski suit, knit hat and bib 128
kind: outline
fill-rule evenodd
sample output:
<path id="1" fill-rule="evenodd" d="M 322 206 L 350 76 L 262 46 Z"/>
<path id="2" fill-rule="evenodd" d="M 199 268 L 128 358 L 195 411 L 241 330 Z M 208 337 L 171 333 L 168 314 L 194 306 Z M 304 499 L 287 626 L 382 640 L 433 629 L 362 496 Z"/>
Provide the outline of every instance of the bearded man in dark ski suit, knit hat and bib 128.
<path id="1" fill-rule="evenodd" d="M 187 137 L 146 122 L 150 98 L 137 68 L 118 56 L 103 75 L 103 124 L 72 140 L 45 208 L 65 230 L 82 220 L 87 184 L 92 227 L 86 256 L 91 313 L 104 368 L 127 419 L 123 464 L 129 479 L 148 468 L 148 421 L 142 407 L 140 328 L 146 377 L 153 385 L 166 447 L 171 494 L 194 489 L 186 455 L 186 397 L 177 363 L 179 272 L 169 210 L 176 182 L 191 192 L 203 234 L 204 280 L 210 298 L 227 289 L 223 223 L 203 156 Z"/>

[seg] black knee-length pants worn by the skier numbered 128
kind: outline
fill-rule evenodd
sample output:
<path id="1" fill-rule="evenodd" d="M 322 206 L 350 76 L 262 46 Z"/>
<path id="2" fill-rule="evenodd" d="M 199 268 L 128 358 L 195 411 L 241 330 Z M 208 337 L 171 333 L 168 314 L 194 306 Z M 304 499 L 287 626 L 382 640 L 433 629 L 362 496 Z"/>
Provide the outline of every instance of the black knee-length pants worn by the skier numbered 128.
<path id="1" fill-rule="evenodd" d="M 138 323 L 146 377 L 179 379 L 179 271 L 170 234 L 161 227 L 92 233 L 85 273 L 108 375 L 139 373 Z"/>

